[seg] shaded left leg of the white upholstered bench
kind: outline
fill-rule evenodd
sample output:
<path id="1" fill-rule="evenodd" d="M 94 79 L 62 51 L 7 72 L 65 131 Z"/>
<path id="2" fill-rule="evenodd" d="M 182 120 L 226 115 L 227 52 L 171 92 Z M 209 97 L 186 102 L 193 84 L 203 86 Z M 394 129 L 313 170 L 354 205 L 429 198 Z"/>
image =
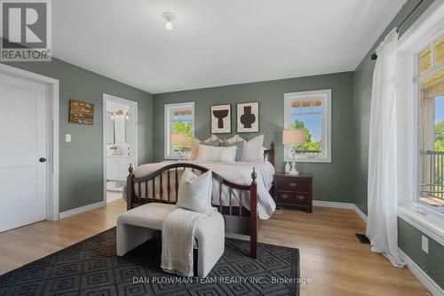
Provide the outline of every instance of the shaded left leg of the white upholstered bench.
<path id="1" fill-rule="evenodd" d="M 117 256 L 123 256 L 153 237 L 153 230 L 117 223 Z"/>

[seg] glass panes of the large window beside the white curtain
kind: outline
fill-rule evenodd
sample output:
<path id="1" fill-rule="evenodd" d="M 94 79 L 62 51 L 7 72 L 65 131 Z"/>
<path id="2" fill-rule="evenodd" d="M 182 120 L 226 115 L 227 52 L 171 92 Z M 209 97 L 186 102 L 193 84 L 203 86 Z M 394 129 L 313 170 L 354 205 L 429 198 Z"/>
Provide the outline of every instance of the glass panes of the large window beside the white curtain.
<path id="1" fill-rule="evenodd" d="M 419 202 L 444 209 L 444 36 L 417 55 Z"/>

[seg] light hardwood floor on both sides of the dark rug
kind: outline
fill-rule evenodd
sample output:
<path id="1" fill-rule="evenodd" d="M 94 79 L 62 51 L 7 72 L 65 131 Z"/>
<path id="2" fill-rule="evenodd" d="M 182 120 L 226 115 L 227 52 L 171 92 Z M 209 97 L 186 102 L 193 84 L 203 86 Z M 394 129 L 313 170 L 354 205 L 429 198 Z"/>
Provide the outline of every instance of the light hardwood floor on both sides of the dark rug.
<path id="1" fill-rule="evenodd" d="M 59 221 L 43 221 L 0 233 L 0 274 L 59 251 L 115 226 L 126 211 L 122 200 Z M 302 295 L 431 295 L 408 268 L 394 268 L 369 251 L 355 233 L 365 224 L 351 210 L 314 207 L 313 213 L 284 210 L 262 221 L 259 241 L 300 251 Z"/>

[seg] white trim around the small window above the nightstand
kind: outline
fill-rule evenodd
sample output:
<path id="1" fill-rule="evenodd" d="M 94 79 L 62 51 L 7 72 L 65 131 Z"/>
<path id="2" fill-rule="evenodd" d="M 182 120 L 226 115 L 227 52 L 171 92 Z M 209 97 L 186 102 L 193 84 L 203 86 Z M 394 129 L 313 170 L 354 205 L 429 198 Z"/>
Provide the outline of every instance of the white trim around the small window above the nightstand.
<path id="1" fill-rule="evenodd" d="M 298 163 L 331 163 L 331 89 L 310 91 L 310 92 L 288 92 L 284 94 L 284 128 L 291 126 L 291 118 L 289 115 L 289 102 L 291 100 L 306 100 L 306 99 L 321 99 L 324 100 L 323 112 L 323 126 L 322 134 L 324 140 L 322 141 L 323 151 L 327 153 L 323 156 L 296 156 L 294 161 Z M 292 161 L 289 157 L 289 145 L 283 145 L 284 161 Z"/>

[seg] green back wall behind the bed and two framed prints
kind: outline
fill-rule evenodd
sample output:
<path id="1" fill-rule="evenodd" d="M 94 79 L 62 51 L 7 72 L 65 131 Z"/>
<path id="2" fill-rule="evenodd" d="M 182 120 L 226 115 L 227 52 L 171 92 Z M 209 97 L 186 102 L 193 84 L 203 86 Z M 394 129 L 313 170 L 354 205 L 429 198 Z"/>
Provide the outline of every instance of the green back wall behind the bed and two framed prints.
<path id="1" fill-rule="evenodd" d="M 276 170 L 283 170 L 283 129 L 284 93 L 313 90 L 332 90 L 332 162 L 331 164 L 298 164 L 300 172 L 312 172 L 313 198 L 324 201 L 350 203 L 353 177 L 353 72 L 321 76 L 305 76 L 251 84 L 235 84 L 184 92 L 168 92 L 154 95 L 154 140 L 155 160 L 163 160 L 163 113 L 164 104 L 194 101 L 195 136 L 206 139 L 210 136 L 210 106 L 232 104 L 233 134 L 236 130 L 236 103 L 259 102 L 259 132 L 243 133 L 251 139 L 264 133 L 264 145 L 269 147 L 273 140 L 276 156 Z M 219 135 L 229 137 L 229 135 Z"/>

